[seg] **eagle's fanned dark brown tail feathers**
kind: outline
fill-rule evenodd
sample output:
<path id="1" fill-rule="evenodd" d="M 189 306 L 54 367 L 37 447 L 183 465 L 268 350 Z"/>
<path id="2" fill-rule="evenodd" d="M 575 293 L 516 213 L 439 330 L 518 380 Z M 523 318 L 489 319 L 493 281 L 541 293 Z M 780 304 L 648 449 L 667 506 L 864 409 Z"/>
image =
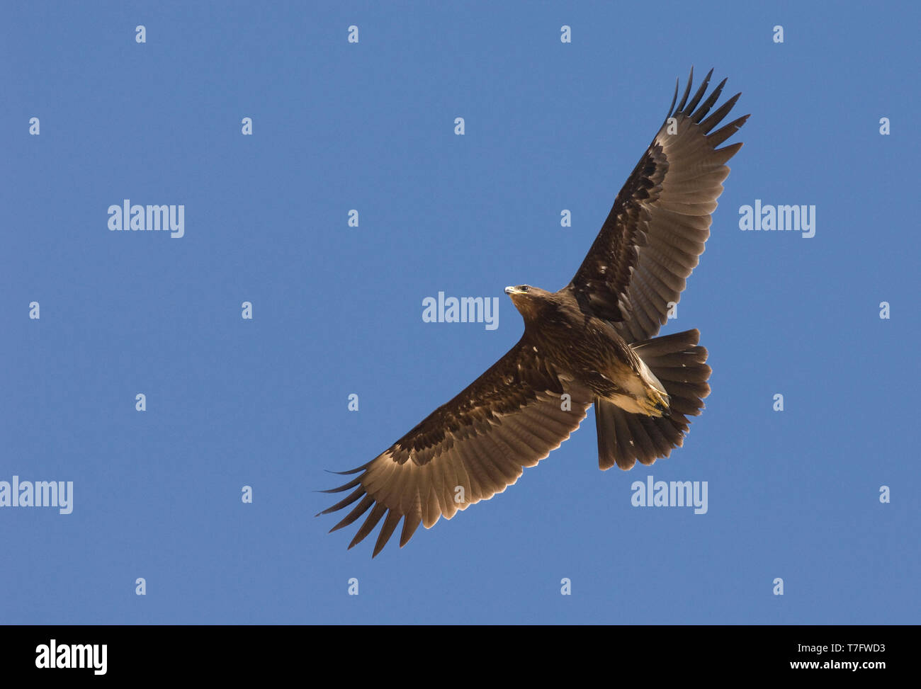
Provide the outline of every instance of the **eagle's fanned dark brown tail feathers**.
<path id="1" fill-rule="evenodd" d="M 710 367 L 706 365 L 705 347 L 697 344 L 699 339 L 699 331 L 688 330 L 631 345 L 668 392 L 670 413 L 661 418 L 631 414 L 596 398 L 600 469 L 614 464 L 631 469 L 637 460 L 651 464 L 659 457 L 668 457 L 672 448 L 681 447 L 690 424 L 685 415 L 699 415 L 704 398 L 710 394 L 706 382 Z"/>

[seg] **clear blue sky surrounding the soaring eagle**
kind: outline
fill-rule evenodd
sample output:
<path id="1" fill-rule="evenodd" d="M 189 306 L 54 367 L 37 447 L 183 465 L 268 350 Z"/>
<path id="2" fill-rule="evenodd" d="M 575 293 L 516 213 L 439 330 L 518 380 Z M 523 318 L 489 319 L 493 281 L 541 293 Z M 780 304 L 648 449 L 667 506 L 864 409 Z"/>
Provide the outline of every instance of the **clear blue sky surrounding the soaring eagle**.
<path id="1" fill-rule="evenodd" d="M 0 621 L 916 624 L 918 20 L 5 4 L 0 481 L 74 500 L 0 508 Z M 355 530 L 313 516 L 324 470 L 517 342 L 503 287 L 569 281 L 692 64 L 752 117 L 662 331 L 699 328 L 714 369 L 684 447 L 602 473 L 589 412 L 505 493 L 374 560 L 373 539 L 346 551 Z M 111 231 L 124 199 L 182 204 L 184 236 Z M 755 199 L 814 205 L 815 236 L 740 231 Z M 500 298 L 498 327 L 424 322 L 439 291 Z M 706 514 L 633 507 L 649 475 L 707 482 Z"/>

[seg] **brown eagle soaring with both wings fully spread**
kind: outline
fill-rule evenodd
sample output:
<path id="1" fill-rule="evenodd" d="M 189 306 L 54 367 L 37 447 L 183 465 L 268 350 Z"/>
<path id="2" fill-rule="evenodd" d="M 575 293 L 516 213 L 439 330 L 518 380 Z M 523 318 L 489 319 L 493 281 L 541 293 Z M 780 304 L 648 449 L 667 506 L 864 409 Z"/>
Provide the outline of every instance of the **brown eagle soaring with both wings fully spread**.
<path id="1" fill-rule="evenodd" d="M 402 547 L 419 524 L 430 529 L 502 493 L 592 405 L 601 470 L 652 464 L 682 446 L 711 369 L 697 330 L 657 335 L 704 252 L 726 163 L 741 143 L 717 146 L 749 117 L 717 129 L 741 94 L 710 113 L 726 84 L 705 98 L 712 75 L 691 96 L 692 67 L 680 102 L 676 82 L 665 122 L 572 281 L 557 292 L 506 287 L 524 320 L 518 344 L 390 448 L 341 472 L 355 478 L 322 491 L 351 492 L 320 514 L 357 503 L 331 531 L 370 510 L 349 548 L 383 520 L 377 556 L 400 520 Z"/>

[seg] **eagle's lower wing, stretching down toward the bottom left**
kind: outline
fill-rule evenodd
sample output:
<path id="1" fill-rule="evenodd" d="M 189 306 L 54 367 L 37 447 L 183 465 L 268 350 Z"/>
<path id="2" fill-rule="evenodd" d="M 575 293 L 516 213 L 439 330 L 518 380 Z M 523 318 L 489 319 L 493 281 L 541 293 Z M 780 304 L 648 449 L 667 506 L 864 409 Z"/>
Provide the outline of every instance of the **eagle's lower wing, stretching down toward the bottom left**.
<path id="1" fill-rule="evenodd" d="M 504 491 L 518 481 L 523 467 L 542 460 L 576 430 L 590 394 L 561 378 L 527 337 L 391 448 L 344 472 L 360 472 L 356 478 L 325 491 L 352 493 L 321 514 L 359 501 L 332 531 L 371 510 L 350 548 L 381 519 L 373 555 L 401 519 L 400 545 L 405 545 L 420 523 L 429 529 L 439 517 L 450 519 L 459 509 Z"/>

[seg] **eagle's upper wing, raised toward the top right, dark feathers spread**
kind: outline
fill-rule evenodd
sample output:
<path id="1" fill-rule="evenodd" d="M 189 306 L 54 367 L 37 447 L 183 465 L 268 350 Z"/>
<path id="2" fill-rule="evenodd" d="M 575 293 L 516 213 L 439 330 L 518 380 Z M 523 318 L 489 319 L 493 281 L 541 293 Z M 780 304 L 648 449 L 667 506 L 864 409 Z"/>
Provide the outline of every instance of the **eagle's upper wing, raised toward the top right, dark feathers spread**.
<path id="1" fill-rule="evenodd" d="M 741 94 L 704 119 L 726 83 L 723 79 L 701 102 L 712 74 L 711 69 L 688 100 L 692 69 L 677 108 L 675 86 L 669 116 L 617 194 L 589 254 L 565 287 L 583 311 L 611 321 L 628 343 L 658 334 L 668 319 L 668 303 L 681 298 L 685 278 L 697 265 L 710 235 L 710 214 L 729 175 L 726 162 L 741 146 L 717 148 L 748 115 L 711 134 Z"/>

